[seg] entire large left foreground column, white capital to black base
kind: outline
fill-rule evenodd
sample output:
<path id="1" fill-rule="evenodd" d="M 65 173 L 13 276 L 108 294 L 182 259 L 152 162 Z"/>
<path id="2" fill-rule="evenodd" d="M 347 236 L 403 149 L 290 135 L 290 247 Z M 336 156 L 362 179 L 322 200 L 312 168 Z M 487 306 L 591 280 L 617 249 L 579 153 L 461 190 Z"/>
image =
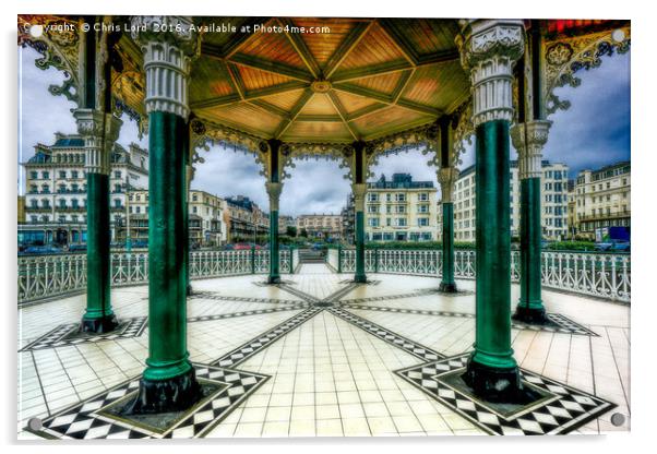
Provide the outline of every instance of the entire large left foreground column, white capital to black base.
<path id="1" fill-rule="evenodd" d="M 190 407 L 200 386 L 187 351 L 186 164 L 191 56 L 198 36 L 179 16 L 134 16 L 148 113 L 148 358 L 132 411 Z M 164 27 L 163 27 L 164 25 Z M 162 32 L 162 29 L 167 32 Z"/>

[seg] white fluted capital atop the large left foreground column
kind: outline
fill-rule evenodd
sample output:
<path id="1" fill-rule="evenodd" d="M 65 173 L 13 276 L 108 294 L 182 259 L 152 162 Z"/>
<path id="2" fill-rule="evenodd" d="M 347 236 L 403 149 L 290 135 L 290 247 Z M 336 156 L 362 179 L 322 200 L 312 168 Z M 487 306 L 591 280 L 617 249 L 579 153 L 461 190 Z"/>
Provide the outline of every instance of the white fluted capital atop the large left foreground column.
<path id="1" fill-rule="evenodd" d="M 183 16 L 133 16 L 132 38 L 144 52 L 146 113 L 164 111 L 187 120 L 191 60 L 200 49 L 199 34 Z"/>

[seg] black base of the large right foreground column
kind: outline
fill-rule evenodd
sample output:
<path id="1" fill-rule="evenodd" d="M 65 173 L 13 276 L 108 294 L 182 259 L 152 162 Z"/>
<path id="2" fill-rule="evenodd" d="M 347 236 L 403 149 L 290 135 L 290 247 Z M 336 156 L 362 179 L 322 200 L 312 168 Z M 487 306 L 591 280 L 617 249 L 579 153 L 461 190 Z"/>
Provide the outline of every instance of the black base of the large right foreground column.
<path id="1" fill-rule="evenodd" d="M 524 404 L 535 399 L 533 392 L 523 389 L 519 369 L 493 368 L 468 359 L 463 381 L 473 389 L 477 397 L 488 402 Z"/>

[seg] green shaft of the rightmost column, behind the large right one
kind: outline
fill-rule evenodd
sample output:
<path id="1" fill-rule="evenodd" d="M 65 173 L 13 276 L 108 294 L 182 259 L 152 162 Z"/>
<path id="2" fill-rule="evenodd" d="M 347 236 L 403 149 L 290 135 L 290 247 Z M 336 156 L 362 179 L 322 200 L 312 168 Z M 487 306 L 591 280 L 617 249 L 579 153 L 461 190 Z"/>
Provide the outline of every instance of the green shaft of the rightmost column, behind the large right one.
<path id="1" fill-rule="evenodd" d="M 521 299 L 518 307 L 545 310 L 541 288 L 540 178 L 521 180 Z"/>

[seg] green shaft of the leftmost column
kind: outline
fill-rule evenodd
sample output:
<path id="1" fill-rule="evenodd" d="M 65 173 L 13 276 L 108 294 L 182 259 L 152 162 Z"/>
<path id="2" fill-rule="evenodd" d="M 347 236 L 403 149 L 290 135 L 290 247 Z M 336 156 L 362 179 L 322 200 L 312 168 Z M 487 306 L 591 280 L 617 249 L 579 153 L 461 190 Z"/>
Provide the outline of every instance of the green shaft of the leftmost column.
<path id="1" fill-rule="evenodd" d="M 94 321 L 111 316 L 109 285 L 109 176 L 86 176 L 86 312 L 83 320 Z"/>

